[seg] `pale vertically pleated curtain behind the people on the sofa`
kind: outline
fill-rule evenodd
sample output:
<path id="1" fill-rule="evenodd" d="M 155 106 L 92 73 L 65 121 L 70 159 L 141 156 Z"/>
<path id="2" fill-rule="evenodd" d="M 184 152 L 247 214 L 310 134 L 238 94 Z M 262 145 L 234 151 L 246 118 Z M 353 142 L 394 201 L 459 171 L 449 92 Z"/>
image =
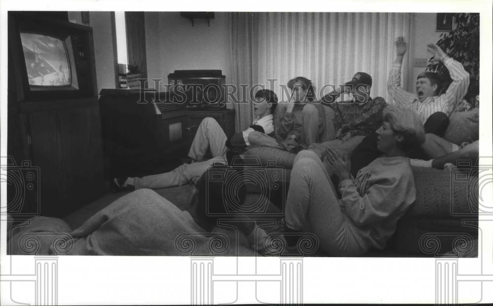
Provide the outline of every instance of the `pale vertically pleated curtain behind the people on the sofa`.
<path id="1" fill-rule="evenodd" d="M 395 58 L 394 41 L 398 36 L 409 41 L 413 18 L 410 13 L 232 12 L 229 20 L 233 85 L 261 84 L 286 101 L 281 85 L 305 76 L 320 98 L 333 89 L 327 85 L 343 84 L 356 72 L 366 72 L 373 78 L 371 96 L 389 102 L 386 84 Z M 409 67 L 408 54 L 403 71 Z M 403 74 L 402 83 L 406 82 Z M 239 91 L 236 99 L 244 102 L 234 102 L 236 128 L 241 131 L 253 119 L 247 103 L 251 97 Z"/>

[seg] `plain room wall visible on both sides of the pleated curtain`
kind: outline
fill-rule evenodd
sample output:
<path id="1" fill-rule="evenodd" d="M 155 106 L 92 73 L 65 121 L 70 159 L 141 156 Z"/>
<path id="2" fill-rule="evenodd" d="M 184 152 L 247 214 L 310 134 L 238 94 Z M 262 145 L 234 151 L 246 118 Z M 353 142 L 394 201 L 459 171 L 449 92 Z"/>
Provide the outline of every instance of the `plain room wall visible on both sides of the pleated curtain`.
<path id="1" fill-rule="evenodd" d="M 75 13 L 69 17 L 79 19 L 80 12 Z M 412 15 L 414 27 L 408 38 L 408 52 L 410 63 L 414 65 L 416 58 L 429 58 L 426 44 L 436 43 L 443 32 L 435 32 L 435 13 Z M 90 26 L 94 35 L 98 92 L 102 88 L 115 88 L 110 12 L 90 12 Z M 145 12 L 145 40 L 148 80 L 160 78 L 162 85 L 175 70 L 220 69 L 226 82 L 231 82 L 227 12 L 215 12 L 210 27 L 204 19 L 195 20 L 192 27 L 179 12 Z M 416 77 L 424 69 L 414 67 L 407 72 L 406 90 L 415 91 Z M 150 81 L 149 87 L 154 88 L 154 82 Z"/>

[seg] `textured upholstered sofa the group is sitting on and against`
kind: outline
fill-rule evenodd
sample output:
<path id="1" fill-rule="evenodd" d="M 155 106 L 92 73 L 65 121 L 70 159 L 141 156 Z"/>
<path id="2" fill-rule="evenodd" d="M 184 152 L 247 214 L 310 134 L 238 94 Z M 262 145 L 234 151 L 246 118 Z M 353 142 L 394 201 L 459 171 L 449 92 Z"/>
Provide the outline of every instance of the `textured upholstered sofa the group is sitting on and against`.
<path id="1" fill-rule="evenodd" d="M 317 108 L 325 125 L 320 141 L 331 141 L 335 138 L 334 112 L 329 106 L 321 104 L 317 104 Z M 276 110 L 275 120 L 276 116 L 279 120 L 279 112 Z M 450 116 L 444 138 L 457 145 L 479 139 L 479 109 Z M 341 146 L 337 142 L 334 142 L 334 146 L 347 152 L 355 147 L 354 143 L 344 147 L 344 144 Z M 269 186 L 284 184 L 284 189 L 288 188 L 296 156 L 294 153 L 251 146 L 245 156 L 266 167 Z M 412 167 L 417 189 L 416 201 L 401 218 L 388 241 L 384 250 L 388 256 L 477 256 L 480 170 L 474 163 L 476 161 L 470 161 L 449 170 Z M 283 175 L 273 175 L 279 173 L 280 169 Z"/>

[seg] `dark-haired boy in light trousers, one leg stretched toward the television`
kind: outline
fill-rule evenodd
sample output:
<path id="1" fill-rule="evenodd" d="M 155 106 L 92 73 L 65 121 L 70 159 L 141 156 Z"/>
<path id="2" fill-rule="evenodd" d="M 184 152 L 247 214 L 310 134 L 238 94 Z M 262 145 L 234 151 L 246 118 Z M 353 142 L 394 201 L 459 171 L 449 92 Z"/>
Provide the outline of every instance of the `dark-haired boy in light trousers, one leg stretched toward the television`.
<path id="1" fill-rule="evenodd" d="M 196 162 L 184 163 L 173 171 L 142 178 L 114 178 L 110 182 L 112 191 L 160 189 L 195 182 L 213 163 L 227 163 L 227 145 L 233 145 L 236 149 L 246 148 L 249 145 L 248 135 L 253 131 L 273 135 L 272 114 L 277 107 L 277 95 L 272 90 L 261 89 L 255 93 L 255 101 L 252 103 L 255 120 L 245 131 L 233 135 L 229 140 L 214 118 L 207 117 L 202 120 L 188 153 L 188 156 Z M 213 157 L 204 160 L 208 149 L 211 150 Z"/>

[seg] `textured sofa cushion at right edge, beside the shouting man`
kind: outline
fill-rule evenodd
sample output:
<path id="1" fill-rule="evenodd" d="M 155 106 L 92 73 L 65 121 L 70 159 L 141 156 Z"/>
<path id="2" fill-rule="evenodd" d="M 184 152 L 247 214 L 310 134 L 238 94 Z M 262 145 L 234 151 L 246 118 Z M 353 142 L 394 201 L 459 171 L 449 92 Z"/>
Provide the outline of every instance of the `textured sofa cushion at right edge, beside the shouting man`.
<path id="1" fill-rule="evenodd" d="M 479 139 L 479 109 L 454 113 L 449 120 L 450 123 L 443 136 L 444 139 L 456 145 Z"/>

